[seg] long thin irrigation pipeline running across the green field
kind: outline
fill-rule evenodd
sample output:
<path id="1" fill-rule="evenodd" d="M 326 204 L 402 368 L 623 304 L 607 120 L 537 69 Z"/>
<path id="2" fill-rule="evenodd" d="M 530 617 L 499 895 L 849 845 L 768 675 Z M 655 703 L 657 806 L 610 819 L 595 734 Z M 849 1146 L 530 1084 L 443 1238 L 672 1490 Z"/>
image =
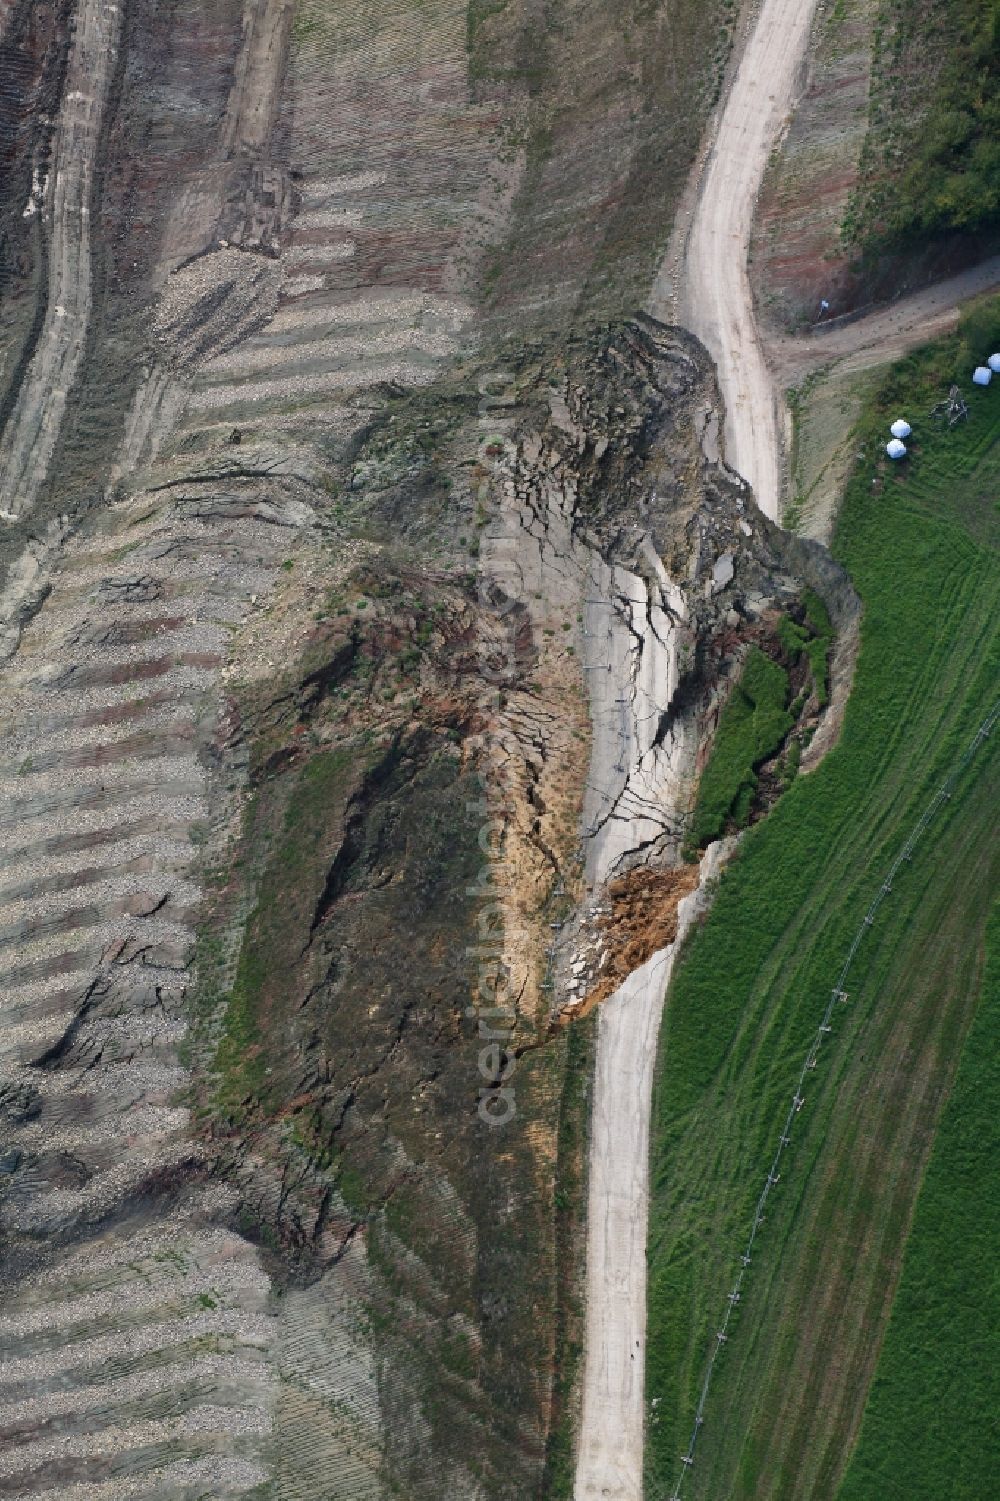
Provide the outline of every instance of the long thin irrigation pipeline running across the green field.
<path id="1" fill-rule="evenodd" d="M 716 1333 L 715 1333 L 715 1336 L 712 1339 L 712 1348 L 709 1351 L 709 1360 L 707 1360 L 707 1366 L 706 1366 L 704 1381 L 701 1382 L 701 1394 L 698 1397 L 698 1405 L 695 1408 L 695 1417 L 694 1417 L 694 1424 L 692 1424 L 692 1429 L 691 1429 L 691 1438 L 688 1441 L 688 1448 L 686 1448 L 685 1454 L 682 1456 L 680 1471 L 677 1474 L 677 1481 L 674 1484 L 674 1489 L 670 1493 L 670 1501 L 682 1501 L 682 1489 L 683 1489 L 685 1480 L 688 1477 L 688 1472 L 689 1472 L 691 1466 L 694 1465 L 695 1447 L 698 1444 L 698 1435 L 700 1435 L 701 1426 L 704 1423 L 704 1408 L 706 1408 L 706 1402 L 709 1400 L 709 1391 L 712 1388 L 712 1376 L 715 1373 L 715 1366 L 716 1366 L 716 1361 L 719 1358 L 719 1352 L 722 1349 L 722 1345 L 725 1345 L 725 1342 L 728 1339 L 730 1321 L 733 1319 L 733 1313 L 736 1310 L 736 1306 L 740 1301 L 743 1282 L 745 1282 L 745 1279 L 748 1276 L 749 1265 L 751 1265 L 751 1261 L 752 1261 L 754 1243 L 757 1240 L 757 1234 L 760 1231 L 760 1226 L 764 1222 L 764 1210 L 767 1207 L 767 1199 L 770 1196 L 770 1190 L 775 1187 L 775 1184 L 778 1183 L 778 1180 L 781 1177 L 781 1172 L 779 1172 L 781 1157 L 782 1157 L 782 1153 L 787 1150 L 787 1147 L 791 1144 L 791 1132 L 793 1132 L 793 1127 L 794 1127 L 796 1117 L 797 1117 L 799 1111 L 802 1109 L 802 1106 L 805 1105 L 803 1090 L 806 1087 L 806 1081 L 809 1078 L 809 1073 L 817 1067 L 820 1049 L 823 1046 L 824 1039 L 833 1031 L 833 1015 L 836 1012 L 836 1007 L 838 1007 L 838 1004 L 841 1004 L 842 1001 L 847 1000 L 847 991 L 844 989 L 844 985 L 847 982 L 847 976 L 850 973 L 850 968 L 851 968 L 851 965 L 854 962 L 854 956 L 857 955 L 857 950 L 862 946 L 865 934 L 874 926 L 875 917 L 878 914 L 878 908 L 881 907 L 881 904 L 884 902 L 884 899 L 892 893 L 892 883 L 893 883 L 893 878 L 895 878 L 896 872 L 899 871 L 899 868 L 905 862 L 908 862 L 913 857 L 914 847 L 923 838 L 928 826 L 935 818 L 935 815 L 940 812 L 940 809 L 943 808 L 943 805 L 950 799 L 950 796 L 952 796 L 952 793 L 955 790 L 955 785 L 958 782 L 958 778 L 965 770 L 965 767 L 968 766 L 968 763 L 973 760 L 973 757 L 979 750 L 980 744 L 983 744 L 983 741 L 988 740 L 989 734 L 992 732 L 992 729 L 994 729 L 994 726 L 997 723 L 997 719 L 1000 719 L 1000 701 L 992 705 L 992 708 L 989 710 L 989 713 L 986 714 L 986 717 L 983 719 L 983 722 L 979 725 L 979 729 L 977 729 L 974 738 L 965 747 L 965 750 L 958 758 L 958 761 L 955 761 L 955 764 L 952 766 L 952 770 L 949 772 L 947 778 L 944 779 L 944 782 L 941 782 L 941 785 L 938 787 L 937 793 L 934 794 L 934 797 L 931 799 L 931 802 L 926 805 L 926 808 L 920 814 L 920 818 L 917 820 L 917 823 L 914 824 L 913 830 L 910 832 L 910 838 L 904 844 L 904 847 L 899 851 L 899 854 L 896 856 L 896 859 L 889 866 L 889 871 L 886 872 L 884 880 L 878 886 L 878 890 L 875 892 L 875 896 L 874 896 L 871 905 L 868 907 L 868 911 L 865 913 L 865 916 L 863 916 L 863 919 L 860 922 L 860 926 L 857 928 L 857 932 L 854 934 L 854 940 L 853 940 L 850 949 L 847 950 L 847 958 L 844 959 L 844 964 L 841 965 L 839 974 L 836 976 L 836 982 L 835 982 L 833 989 L 830 991 L 830 997 L 829 997 L 829 1000 L 826 1003 L 826 1010 L 823 1012 L 823 1021 L 818 1024 L 818 1027 L 815 1030 L 815 1036 L 812 1039 L 812 1043 L 809 1045 L 809 1051 L 808 1051 L 808 1054 L 805 1057 L 805 1061 L 802 1064 L 802 1070 L 799 1073 L 799 1081 L 796 1084 L 794 1094 L 791 1097 L 791 1105 L 788 1106 L 788 1114 L 785 1115 L 784 1126 L 781 1127 L 781 1136 L 778 1138 L 778 1147 L 775 1150 L 775 1156 L 772 1159 L 770 1168 L 767 1169 L 767 1177 L 764 1180 L 764 1184 L 761 1187 L 760 1196 L 757 1199 L 757 1208 L 754 1210 L 754 1219 L 751 1222 L 749 1235 L 748 1235 L 746 1243 L 743 1246 L 743 1252 L 742 1252 L 742 1255 L 739 1258 L 739 1271 L 737 1271 L 737 1276 L 736 1276 L 736 1280 L 733 1283 L 731 1291 L 727 1294 L 725 1315 L 724 1315 L 724 1318 L 722 1318 L 722 1321 L 719 1324 L 719 1328 L 716 1330 Z"/>

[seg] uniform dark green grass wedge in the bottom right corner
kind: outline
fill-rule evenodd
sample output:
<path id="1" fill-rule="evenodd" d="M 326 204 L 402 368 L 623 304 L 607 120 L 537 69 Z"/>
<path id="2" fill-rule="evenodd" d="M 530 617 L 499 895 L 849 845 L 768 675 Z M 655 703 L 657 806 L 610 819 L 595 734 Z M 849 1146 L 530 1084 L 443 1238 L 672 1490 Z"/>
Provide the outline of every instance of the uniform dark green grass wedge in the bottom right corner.
<path id="1" fill-rule="evenodd" d="M 1000 1475 L 1000 907 L 988 955 L 839 1501 L 982 1501 Z"/>

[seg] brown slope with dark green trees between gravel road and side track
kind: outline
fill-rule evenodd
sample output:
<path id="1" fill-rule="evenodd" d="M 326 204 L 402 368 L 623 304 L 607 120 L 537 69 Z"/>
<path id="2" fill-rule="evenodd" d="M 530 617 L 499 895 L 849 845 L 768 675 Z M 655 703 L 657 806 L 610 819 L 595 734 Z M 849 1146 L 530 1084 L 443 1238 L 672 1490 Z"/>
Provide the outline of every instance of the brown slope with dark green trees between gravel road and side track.
<path id="1" fill-rule="evenodd" d="M 842 0 L 817 12 L 757 216 L 767 321 L 802 330 L 995 255 L 998 63 L 995 17 L 976 0 Z"/>

